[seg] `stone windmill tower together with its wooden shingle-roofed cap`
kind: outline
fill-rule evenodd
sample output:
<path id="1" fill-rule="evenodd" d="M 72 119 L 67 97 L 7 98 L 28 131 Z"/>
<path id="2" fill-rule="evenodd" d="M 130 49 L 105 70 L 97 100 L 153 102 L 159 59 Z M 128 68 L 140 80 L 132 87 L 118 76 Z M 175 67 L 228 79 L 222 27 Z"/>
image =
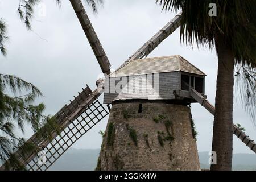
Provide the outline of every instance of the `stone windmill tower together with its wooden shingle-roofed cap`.
<path id="1" fill-rule="evenodd" d="M 204 95 L 204 77 L 181 56 L 133 60 L 107 77 L 112 108 L 96 169 L 199 170 L 188 105 L 191 88 Z"/>

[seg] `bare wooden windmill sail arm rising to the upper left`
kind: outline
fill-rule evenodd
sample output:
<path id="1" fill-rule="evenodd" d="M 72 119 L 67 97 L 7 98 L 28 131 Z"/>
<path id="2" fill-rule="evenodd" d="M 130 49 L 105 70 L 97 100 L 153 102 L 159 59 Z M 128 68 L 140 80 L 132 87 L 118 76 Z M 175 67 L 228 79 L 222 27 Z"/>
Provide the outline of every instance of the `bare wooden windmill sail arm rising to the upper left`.
<path id="1" fill-rule="evenodd" d="M 109 63 L 109 59 L 106 56 L 104 48 L 102 48 L 100 40 L 98 39 L 98 36 L 93 29 L 92 23 L 90 23 L 90 20 L 88 18 L 88 15 L 85 12 L 85 9 L 84 9 L 84 6 L 82 5 L 81 0 L 70 0 L 70 2 L 73 6 L 73 9 L 76 12 L 77 18 L 81 23 L 81 26 L 85 32 L 85 35 L 89 40 L 89 43 L 93 49 L 94 55 L 98 60 L 98 64 L 100 64 L 102 72 L 105 73 L 106 75 L 109 75 L 110 67 L 111 67 Z"/>

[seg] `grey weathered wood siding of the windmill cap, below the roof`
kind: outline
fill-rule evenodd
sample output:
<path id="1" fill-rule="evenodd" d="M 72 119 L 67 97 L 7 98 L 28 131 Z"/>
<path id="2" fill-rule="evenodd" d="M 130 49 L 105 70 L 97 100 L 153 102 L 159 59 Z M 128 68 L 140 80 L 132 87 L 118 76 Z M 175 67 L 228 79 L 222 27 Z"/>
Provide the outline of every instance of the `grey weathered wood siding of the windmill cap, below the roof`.
<path id="1" fill-rule="evenodd" d="M 110 104 L 114 100 L 174 99 L 173 90 L 177 89 L 180 89 L 180 72 L 136 75 L 129 78 L 110 77 L 105 82 L 104 104 Z"/>

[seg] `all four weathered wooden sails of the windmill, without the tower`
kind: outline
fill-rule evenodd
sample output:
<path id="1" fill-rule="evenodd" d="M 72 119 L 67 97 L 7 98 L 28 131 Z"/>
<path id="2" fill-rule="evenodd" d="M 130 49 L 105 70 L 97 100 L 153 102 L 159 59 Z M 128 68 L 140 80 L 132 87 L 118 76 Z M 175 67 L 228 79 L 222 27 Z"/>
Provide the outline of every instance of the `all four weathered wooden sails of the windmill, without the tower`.
<path id="1" fill-rule="evenodd" d="M 109 76 L 110 63 L 104 49 L 101 46 L 100 40 L 98 39 L 96 32 L 94 31 L 92 24 L 85 12 L 85 9 L 81 3 L 81 0 L 70 0 L 73 9 L 79 19 L 82 29 L 85 32 L 86 37 L 89 40 L 90 46 L 93 49 L 94 55 L 100 64 L 102 72 Z M 139 60 L 149 55 L 164 39 L 172 34 L 180 26 L 181 13 L 176 15 L 174 19 L 166 24 L 159 32 L 157 32 L 148 42 L 146 42 L 141 48 L 138 49 L 129 59 L 125 61 L 119 67 L 120 70 L 129 63 Z M 133 62 L 134 63 L 134 62 Z M 191 78 L 189 78 L 191 80 Z M 31 154 L 22 155 L 22 151 L 18 150 L 15 152 L 15 156 L 19 162 L 22 163 L 28 170 L 47 170 L 52 166 L 69 147 L 72 146 L 82 135 L 92 129 L 98 122 L 105 118 L 110 109 L 110 102 L 107 102 L 109 110 L 106 110 L 104 106 L 98 101 L 98 97 L 104 92 L 106 83 L 105 79 L 97 80 L 97 88 L 91 90 L 88 85 L 82 92 L 70 104 L 65 105 L 55 115 L 56 121 L 61 127 L 60 135 L 57 131 L 53 130 L 51 138 L 38 138 L 36 134 L 32 135 L 29 142 L 32 142 L 37 146 L 37 149 Z M 191 81 L 189 81 L 191 84 Z M 189 94 L 180 92 L 180 90 L 174 90 L 172 93 L 175 98 L 179 100 L 188 99 L 188 102 L 199 102 L 205 107 L 211 114 L 214 115 L 214 107 L 207 101 L 204 94 L 197 92 L 197 90 L 189 86 Z M 42 127 L 42 130 L 44 127 Z M 242 140 L 251 150 L 256 152 L 255 143 L 249 138 L 241 129 L 236 125 L 233 125 L 233 133 Z M 39 152 L 41 151 L 41 152 Z M 39 155 L 44 151 L 44 157 L 46 160 L 43 163 L 39 163 Z M 8 161 L 6 162 L 8 163 Z M 3 165 L 1 170 L 5 169 Z"/>

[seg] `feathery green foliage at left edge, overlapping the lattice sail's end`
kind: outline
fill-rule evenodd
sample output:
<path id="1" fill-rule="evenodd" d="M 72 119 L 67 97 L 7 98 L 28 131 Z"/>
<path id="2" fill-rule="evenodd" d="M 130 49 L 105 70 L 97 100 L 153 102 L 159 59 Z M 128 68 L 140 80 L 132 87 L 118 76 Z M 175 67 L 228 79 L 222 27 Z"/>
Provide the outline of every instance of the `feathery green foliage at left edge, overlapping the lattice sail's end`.
<path id="1" fill-rule="evenodd" d="M 23 92 L 27 94 L 16 96 Z M 25 156 L 36 150 L 34 144 L 14 134 L 15 126 L 24 133 L 24 123 L 27 123 L 39 137 L 49 137 L 53 130 L 59 131 L 55 118 L 42 114 L 44 105 L 33 105 L 39 96 L 42 93 L 34 85 L 19 77 L 0 74 L 0 163 L 9 159 L 6 168 L 24 169 L 12 154 L 14 151 L 19 149 Z"/>

